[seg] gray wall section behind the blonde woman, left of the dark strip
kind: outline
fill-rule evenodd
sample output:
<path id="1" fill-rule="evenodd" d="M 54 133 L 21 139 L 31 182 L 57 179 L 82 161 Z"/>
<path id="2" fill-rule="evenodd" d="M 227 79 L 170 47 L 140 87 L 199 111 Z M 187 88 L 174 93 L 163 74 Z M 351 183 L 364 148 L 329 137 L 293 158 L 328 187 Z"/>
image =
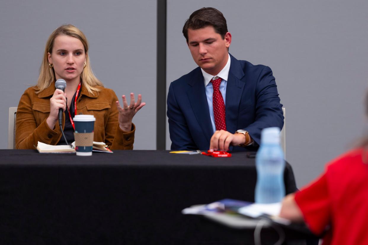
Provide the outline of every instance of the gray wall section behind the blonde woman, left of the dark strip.
<path id="1" fill-rule="evenodd" d="M 0 148 L 7 148 L 8 108 L 35 85 L 51 32 L 73 24 L 84 32 L 95 75 L 118 98 L 142 94 L 133 118 L 134 149 L 156 149 L 156 1 L 0 2 Z M 137 98 L 137 97 L 136 97 Z M 129 101 L 129 100 L 128 100 Z M 149 120 L 147 120 L 149 119 Z"/>

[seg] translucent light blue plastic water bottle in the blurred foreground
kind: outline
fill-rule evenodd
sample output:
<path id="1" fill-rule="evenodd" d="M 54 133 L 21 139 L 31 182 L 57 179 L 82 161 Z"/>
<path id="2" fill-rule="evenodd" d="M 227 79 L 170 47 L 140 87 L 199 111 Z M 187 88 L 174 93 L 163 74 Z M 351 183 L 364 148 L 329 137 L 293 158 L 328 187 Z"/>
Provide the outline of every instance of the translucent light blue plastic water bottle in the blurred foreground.
<path id="1" fill-rule="evenodd" d="M 280 147 L 280 129 L 269 127 L 261 131 L 261 146 L 256 154 L 256 203 L 280 202 L 285 196 L 284 152 Z"/>

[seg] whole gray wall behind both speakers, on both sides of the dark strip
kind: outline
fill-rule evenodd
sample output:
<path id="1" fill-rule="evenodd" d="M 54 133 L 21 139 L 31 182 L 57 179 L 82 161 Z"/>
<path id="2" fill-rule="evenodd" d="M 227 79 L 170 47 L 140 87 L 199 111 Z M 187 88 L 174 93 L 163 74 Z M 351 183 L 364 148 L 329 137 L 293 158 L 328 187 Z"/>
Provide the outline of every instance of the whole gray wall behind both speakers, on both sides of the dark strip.
<path id="1" fill-rule="evenodd" d="M 167 88 L 196 67 L 181 29 L 205 6 L 227 19 L 231 54 L 272 68 L 287 111 L 286 158 L 298 186 L 308 183 L 366 131 L 368 2 L 168 0 Z M 0 148 L 7 148 L 8 108 L 36 83 L 46 40 L 66 23 L 87 36 L 106 87 L 142 94 L 134 147 L 156 148 L 156 1 L 1 1 L 0 23 Z M 166 141 L 169 149 L 168 131 Z"/>

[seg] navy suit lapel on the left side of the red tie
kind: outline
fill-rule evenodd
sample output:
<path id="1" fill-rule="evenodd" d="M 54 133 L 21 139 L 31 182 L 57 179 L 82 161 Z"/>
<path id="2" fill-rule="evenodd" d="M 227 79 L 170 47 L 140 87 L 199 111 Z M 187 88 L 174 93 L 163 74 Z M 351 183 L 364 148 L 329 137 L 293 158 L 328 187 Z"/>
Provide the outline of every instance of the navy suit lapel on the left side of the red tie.
<path id="1" fill-rule="evenodd" d="M 209 140 L 212 137 L 212 124 L 209 115 L 207 97 L 205 86 L 203 82 L 203 75 L 201 69 L 198 67 L 192 80 L 188 82 L 187 96 L 193 109 L 194 115 L 197 118 L 199 126 L 204 132 L 206 139 Z"/>

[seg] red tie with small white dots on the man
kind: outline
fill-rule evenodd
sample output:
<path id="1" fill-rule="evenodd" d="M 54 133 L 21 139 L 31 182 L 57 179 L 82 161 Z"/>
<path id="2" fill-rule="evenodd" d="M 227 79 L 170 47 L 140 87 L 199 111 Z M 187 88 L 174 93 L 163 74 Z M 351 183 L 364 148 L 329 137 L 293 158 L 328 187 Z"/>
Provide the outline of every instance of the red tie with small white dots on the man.
<path id="1" fill-rule="evenodd" d="M 221 78 L 218 76 L 214 77 L 212 82 L 213 87 L 213 116 L 215 118 L 216 130 L 226 130 L 226 121 L 225 121 L 225 103 L 222 98 L 222 94 L 220 92 L 220 83 Z"/>

